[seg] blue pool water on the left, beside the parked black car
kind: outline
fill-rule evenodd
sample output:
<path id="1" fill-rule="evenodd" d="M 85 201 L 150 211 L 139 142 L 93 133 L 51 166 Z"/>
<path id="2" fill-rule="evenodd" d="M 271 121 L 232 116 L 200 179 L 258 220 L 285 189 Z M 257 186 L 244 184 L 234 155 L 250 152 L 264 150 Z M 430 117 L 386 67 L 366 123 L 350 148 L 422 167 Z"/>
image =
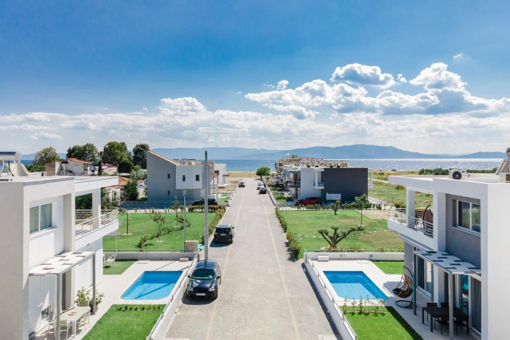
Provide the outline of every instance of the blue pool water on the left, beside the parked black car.
<path id="1" fill-rule="evenodd" d="M 143 272 L 122 294 L 124 300 L 159 300 L 167 297 L 182 271 Z"/>

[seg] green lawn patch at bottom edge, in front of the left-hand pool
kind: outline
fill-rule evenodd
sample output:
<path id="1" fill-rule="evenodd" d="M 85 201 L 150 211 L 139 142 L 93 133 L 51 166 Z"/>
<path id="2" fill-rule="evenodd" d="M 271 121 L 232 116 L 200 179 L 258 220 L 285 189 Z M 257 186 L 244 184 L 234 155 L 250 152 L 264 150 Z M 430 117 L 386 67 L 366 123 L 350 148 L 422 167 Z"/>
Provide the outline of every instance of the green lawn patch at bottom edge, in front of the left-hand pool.
<path id="1" fill-rule="evenodd" d="M 152 305 L 159 306 L 160 310 L 118 310 L 121 306 L 141 307 L 141 305 L 112 305 L 83 339 L 145 340 L 165 307 Z"/>

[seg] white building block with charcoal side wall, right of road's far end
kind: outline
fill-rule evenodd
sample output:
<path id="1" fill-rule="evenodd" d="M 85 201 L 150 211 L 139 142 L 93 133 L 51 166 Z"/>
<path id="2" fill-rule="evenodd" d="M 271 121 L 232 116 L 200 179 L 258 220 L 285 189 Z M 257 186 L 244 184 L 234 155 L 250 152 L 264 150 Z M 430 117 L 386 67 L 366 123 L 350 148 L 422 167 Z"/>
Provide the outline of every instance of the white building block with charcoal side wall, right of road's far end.
<path id="1" fill-rule="evenodd" d="M 317 196 L 323 202 L 335 199 L 350 201 L 368 194 L 368 168 L 349 167 L 347 160 L 281 159 L 276 172 L 276 178 L 296 199 Z"/>

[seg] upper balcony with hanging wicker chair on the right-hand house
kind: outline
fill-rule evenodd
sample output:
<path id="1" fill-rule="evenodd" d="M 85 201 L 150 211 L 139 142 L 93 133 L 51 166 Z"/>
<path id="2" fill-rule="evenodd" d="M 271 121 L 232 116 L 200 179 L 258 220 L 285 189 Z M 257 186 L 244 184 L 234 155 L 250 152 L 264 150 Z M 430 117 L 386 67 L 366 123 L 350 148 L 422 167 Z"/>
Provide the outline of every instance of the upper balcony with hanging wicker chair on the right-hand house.
<path id="1" fill-rule="evenodd" d="M 392 208 L 388 211 L 388 227 L 425 246 L 433 245 L 433 224 L 421 218 L 407 216 L 405 209 Z"/>

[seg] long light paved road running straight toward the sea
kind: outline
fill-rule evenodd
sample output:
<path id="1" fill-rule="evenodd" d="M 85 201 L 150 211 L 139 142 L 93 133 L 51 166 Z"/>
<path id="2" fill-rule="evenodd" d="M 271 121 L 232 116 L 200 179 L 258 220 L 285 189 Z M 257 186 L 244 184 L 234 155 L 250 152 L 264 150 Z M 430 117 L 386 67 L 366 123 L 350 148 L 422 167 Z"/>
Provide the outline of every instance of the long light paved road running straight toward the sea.
<path id="1" fill-rule="evenodd" d="M 318 339 L 336 333 L 303 271 L 291 260 L 285 234 L 257 179 L 239 188 L 224 223 L 236 227 L 233 244 L 211 245 L 222 270 L 219 297 L 185 298 L 167 339 Z"/>

